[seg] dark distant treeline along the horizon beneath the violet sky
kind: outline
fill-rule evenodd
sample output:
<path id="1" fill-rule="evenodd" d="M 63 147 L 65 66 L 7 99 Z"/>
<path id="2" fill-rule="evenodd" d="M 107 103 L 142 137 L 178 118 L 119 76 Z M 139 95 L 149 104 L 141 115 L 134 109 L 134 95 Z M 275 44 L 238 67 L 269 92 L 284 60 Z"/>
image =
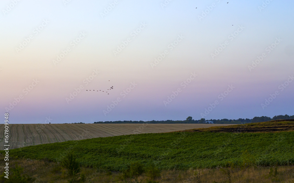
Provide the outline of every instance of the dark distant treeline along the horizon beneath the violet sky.
<path id="1" fill-rule="evenodd" d="M 261 116 L 261 117 L 253 117 L 253 119 L 242 119 L 239 118 L 238 120 L 228 120 L 228 119 L 221 119 L 221 120 L 206 120 L 205 118 L 201 118 L 200 120 L 193 120 L 191 116 L 187 117 L 186 120 L 166 120 L 166 121 L 98 121 L 94 123 L 161 123 L 161 124 L 173 124 L 173 123 L 190 123 L 190 124 L 195 124 L 195 123 L 208 123 L 207 121 L 213 121 L 214 124 L 245 124 L 245 123 L 254 123 L 254 122 L 265 122 L 265 121 L 270 121 L 270 120 L 291 120 L 294 119 L 294 115 L 289 116 L 289 115 L 278 115 L 274 116 L 273 118 L 267 117 L 267 116 Z"/>

